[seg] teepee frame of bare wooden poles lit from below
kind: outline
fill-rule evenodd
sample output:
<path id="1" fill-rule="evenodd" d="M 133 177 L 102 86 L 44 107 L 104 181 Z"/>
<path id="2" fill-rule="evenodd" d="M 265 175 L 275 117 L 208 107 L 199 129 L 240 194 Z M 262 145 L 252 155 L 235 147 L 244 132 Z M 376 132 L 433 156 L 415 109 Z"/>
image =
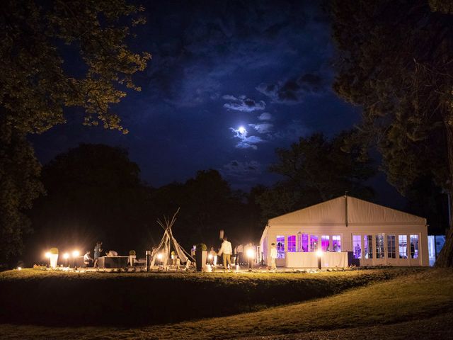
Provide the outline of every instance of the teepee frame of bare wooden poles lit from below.
<path id="1" fill-rule="evenodd" d="M 176 251 L 176 254 L 178 254 L 181 263 L 186 263 L 188 259 L 190 259 L 190 261 L 195 261 L 195 259 L 193 259 L 193 257 L 190 256 L 190 254 L 188 254 L 188 252 L 178 244 L 175 237 L 173 237 L 173 232 L 171 231 L 171 228 L 176 222 L 176 215 L 178 215 L 179 210 L 180 208 L 176 210 L 171 219 L 164 215 L 164 222 L 162 222 L 160 219 L 157 220 L 157 223 L 162 227 L 162 229 L 164 229 L 164 237 L 162 237 L 159 246 L 157 246 L 151 253 L 151 266 L 154 266 L 154 263 L 156 263 L 157 255 L 160 253 L 162 254 L 162 264 L 164 268 L 167 268 L 168 259 L 170 259 L 172 247 Z"/>

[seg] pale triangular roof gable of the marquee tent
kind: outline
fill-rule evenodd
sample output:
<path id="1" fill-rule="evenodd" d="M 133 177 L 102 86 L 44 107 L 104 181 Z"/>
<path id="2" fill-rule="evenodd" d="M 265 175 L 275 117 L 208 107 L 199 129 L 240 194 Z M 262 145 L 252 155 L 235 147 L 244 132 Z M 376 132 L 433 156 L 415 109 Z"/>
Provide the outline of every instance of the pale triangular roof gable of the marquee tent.
<path id="1" fill-rule="evenodd" d="M 346 206 L 348 207 L 348 225 L 426 225 L 426 219 L 423 217 L 351 196 L 340 196 L 271 218 L 268 224 L 345 225 Z"/>

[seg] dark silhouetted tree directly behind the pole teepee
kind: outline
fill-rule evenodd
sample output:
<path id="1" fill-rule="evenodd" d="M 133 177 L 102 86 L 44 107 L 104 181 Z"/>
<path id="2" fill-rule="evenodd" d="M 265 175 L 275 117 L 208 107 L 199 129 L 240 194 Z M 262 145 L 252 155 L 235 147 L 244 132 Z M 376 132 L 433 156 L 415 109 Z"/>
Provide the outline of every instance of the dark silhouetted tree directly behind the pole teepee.
<path id="1" fill-rule="evenodd" d="M 153 202 L 156 218 L 181 208 L 174 233 L 186 247 L 199 242 L 217 245 L 220 229 L 234 242 L 250 242 L 256 236 L 253 208 L 217 170 L 197 171 L 185 183 L 163 186 L 154 192 Z"/>

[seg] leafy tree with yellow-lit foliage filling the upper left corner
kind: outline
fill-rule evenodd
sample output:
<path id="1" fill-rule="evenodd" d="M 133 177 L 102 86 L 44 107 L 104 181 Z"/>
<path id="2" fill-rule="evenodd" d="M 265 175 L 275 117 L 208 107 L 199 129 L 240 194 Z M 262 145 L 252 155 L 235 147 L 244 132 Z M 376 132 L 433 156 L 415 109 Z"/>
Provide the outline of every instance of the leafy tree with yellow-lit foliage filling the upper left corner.
<path id="1" fill-rule="evenodd" d="M 0 186 L 4 198 L 0 204 L 11 218 L 0 220 L 0 231 L 6 238 L 15 235 L 4 242 L 13 242 L 17 251 L 21 232 L 11 221 L 24 218 L 23 209 L 30 207 L 40 189 L 35 186 L 37 190 L 29 196 L 20 194 L 28 187 L 8 165 L 18 161 L 14 152 L 28 155 L 30 166 L 38 166 L 30 172 L 30 179 L 34 177 L 39 164 L 26 135 L 64 123 L 64 108 L 70 106 L 84 109 L 85 125 L 101 124 L 127 133 L 110 106 L 120 101 L 127 89 L 140 90 L 132 75 L 146 67 L 150 55 L 132 52 L 128 46 L 130 29 L 144 22 L 140 11 L 141 7 L 124 0 L 2 3 L 0 125 L 7 133 L 2 132 L 0 140 L 0 174 L 1 182 L 9 185 Z M 13 254 L 3 247 L 0 252 L 4 259 Z"/>

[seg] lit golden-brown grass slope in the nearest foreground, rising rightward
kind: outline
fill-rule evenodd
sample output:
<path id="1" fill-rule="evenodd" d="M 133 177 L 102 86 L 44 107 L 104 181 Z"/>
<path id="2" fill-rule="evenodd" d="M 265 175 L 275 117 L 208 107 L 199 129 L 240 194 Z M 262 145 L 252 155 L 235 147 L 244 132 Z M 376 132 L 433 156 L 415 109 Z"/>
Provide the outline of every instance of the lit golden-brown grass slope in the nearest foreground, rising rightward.
<path id="1" fill-rule="evenodd" d="M 430 270 L 231 317 L 134 329 L 6 324 L 0 334 L 2 339 L 450 339 L 452 308 L 453 271 Z"/>

